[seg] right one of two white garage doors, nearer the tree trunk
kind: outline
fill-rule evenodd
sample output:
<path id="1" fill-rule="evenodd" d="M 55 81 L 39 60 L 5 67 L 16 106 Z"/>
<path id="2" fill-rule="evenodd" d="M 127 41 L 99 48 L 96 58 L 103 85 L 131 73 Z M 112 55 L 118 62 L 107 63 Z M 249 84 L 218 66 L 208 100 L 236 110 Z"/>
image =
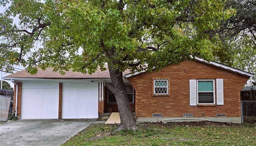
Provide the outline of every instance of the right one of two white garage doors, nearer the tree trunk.
<path id="1" fill-rule="evenodd" d="M 98 118 L 98 83 L 63 83 L 62 118 Z"/>

